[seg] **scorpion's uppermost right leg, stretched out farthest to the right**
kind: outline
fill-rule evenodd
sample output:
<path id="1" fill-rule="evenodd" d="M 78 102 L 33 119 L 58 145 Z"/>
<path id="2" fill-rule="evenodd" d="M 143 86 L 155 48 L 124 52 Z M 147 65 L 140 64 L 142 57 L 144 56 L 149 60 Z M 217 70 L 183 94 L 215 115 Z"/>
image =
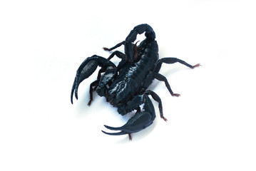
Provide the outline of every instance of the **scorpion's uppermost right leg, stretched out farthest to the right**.
<path id="1" fill-rule="evenodd" d="M 182 63 L 189 68 L 195 68 L 200 66 L 200 63 L 196 64 L 195 66 L 191 66 L 190 64 L 186 63 L 185 61 L 180 60 L 179 58 L 160 58 L 155 66 L 155 72 L 158 73 L 163 63 Z"/>

